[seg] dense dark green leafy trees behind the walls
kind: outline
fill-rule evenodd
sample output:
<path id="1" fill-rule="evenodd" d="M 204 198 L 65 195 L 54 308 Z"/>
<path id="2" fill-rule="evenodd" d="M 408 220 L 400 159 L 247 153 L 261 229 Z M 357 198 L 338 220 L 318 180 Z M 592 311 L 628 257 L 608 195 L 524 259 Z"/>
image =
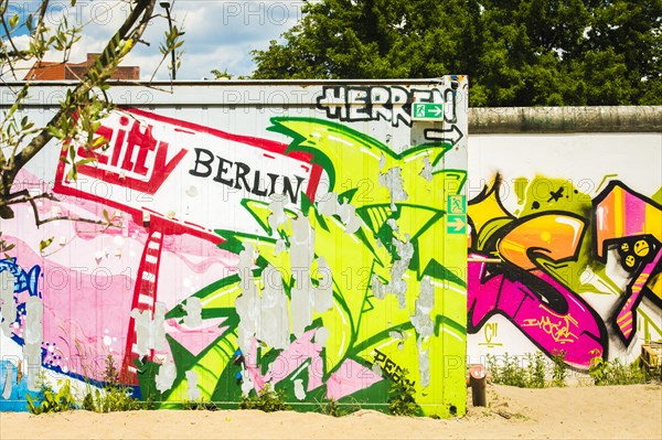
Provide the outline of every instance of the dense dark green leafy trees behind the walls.
<path id="1" fill-rule="evenodd" d="M 472 106 L 662 103 L 661 0 L 322 0 L 255 78 L 468 74 Z"/>

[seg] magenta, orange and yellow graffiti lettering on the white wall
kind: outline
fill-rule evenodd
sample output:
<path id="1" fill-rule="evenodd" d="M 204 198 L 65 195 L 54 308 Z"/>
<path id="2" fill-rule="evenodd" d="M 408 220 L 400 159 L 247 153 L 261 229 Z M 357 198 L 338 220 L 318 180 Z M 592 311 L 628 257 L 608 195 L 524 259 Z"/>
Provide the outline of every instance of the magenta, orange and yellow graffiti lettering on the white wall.
<path id="1" fill-rule="evenodd" d="M 470 202 L 468 331 L 501 314 L 545 353 L 563 351 L 569 366 L 588 368 L 592 357 L 607 357 L 610 337 L 573 286 L 581 285 L 583 273 L 604 271 L 613 250 L 629 276 L 611 312 L 613 333 L 630 344 L 642 298 L 662 304 L 660 205 L 611 182 L 591 203 L 566 202 L 564 211 L 556 204 L 572 189 L 553 189 L 548 200 L 527 200 L 531 207 L 515 217 L 501 204 L 499 184 L 498 178 Z"/>

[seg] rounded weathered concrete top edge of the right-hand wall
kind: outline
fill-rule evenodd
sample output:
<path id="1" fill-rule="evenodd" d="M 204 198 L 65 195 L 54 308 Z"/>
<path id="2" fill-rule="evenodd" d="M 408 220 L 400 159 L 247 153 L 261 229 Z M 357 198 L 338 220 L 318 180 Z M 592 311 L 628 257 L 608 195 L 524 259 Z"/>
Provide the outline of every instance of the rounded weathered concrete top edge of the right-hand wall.
<path id="1" fill-rule="evenodd" d="M 662 106 L 481 107 L 469 133 L 662 132 Z"/>

